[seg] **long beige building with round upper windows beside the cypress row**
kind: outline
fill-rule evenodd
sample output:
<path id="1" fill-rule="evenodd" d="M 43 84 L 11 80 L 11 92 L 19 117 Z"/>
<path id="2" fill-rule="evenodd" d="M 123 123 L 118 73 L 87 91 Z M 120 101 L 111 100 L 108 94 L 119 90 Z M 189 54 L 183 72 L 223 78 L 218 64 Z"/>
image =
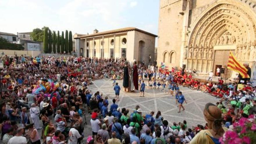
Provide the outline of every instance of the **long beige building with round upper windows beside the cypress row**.
<path id="1" fill-rule="evenodd" d="M 93 34 L 75 34 L 75 46 L 78 56 L 97 58 L 127 58 L 149 63 L 154 61 L 155 38 L 157 35 L 127 27 Z"/>

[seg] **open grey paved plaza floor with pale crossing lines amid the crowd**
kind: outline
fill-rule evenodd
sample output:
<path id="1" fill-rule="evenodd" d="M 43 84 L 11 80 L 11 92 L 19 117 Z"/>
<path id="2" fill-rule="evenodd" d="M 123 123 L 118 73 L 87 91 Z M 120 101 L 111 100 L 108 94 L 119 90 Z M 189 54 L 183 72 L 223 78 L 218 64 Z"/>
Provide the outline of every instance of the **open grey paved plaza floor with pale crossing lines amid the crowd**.
<path id="1" fill-rule="evenodd" d="M 177 113 L 178 107 L 175 104 L 175 96 L 163 93 L 161 90 L 156 89 L 145 89 L 145 97 L 139 97 L 139 91 L 135 93 L 128 93 L 122 91 L 122 81 L 117 81 L 121 87 L 120 91 L 120 101 L 116 102 L 121 108 L 128 108 L 131 113 L 136 105 L 139 105 L 143 110 L 143 115 L 149 114 L 150 111 L 161 111 L 164 119 L 168 120 L 169 124 L 172 125 L 173 122 L 183 122 L 187 121 L 188 127 L 196 126 L 197 124 L 205 125 L 205 120 L 203 116 L 203 110 L 207 102 L 216 103 L 218 99 L 209 95 L 208 93 L 203 93 L 197 90 L 191 90 L 189 88 L 180 86 L 186 101 L 184 102 L 185 111 Z M 109 107 L 112 104 L 112 99 L 115 98 L 115 93 L 112 86 L 112 81 L 110 79 L 101 79 L 93 81 L 93 85 L 88 86 L 90 90 L 95 93 L 99 91 L 103 93 L 103 98 L 105 96 L 109 97 Z M 166 88 L 167 91 L 167 88 Z M 154 117 L 155 117 L 154 115 Z M 90 118 L 87 118 L 88 125 L 86 127 L 90 128 Z"/>

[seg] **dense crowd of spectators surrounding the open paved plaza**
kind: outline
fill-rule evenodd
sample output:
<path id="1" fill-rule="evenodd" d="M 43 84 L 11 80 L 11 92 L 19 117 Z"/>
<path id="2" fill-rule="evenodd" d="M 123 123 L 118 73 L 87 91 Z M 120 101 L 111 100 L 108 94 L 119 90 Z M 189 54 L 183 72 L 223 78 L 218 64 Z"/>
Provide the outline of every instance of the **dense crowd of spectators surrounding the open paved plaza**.
<path id="1" fill-rule="evenodd" d="M 172 68 L 167 74 L 138 64 L 141 96 L 151 88 L 175 95 L 178 112 L 186 102 L 179 86 L 219 97 L 216 105 L 206 104 L 204 126 L 187 126 L 186 120 L 170 124 L 161 111 L 143 115 L 140 106 L 134 110 L 119 107 L 120 87 L 115 80 L 123 77 L 125 59 L 3 56 L 1 60 L 0 132 L 4 144 L 218 143 L 225 128 L 255 113 L 255 88 L 249 83 L 200 82 L 182 69 Z M 87 87 L 104 77 L 113 80 L 116 99 L 110 106 L 107 96 Z M 91 136 L 84 135 L 87 113 Z"/>

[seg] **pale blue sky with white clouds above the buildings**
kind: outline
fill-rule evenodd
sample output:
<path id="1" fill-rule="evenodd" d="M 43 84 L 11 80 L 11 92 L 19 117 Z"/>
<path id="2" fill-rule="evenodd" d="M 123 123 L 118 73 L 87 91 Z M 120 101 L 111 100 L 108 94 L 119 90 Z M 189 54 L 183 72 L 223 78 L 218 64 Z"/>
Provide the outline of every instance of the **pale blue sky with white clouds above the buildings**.
<path id="1" fill-rule="evenodd" d="M 0 13 L 0 31 L 7 33 L 136 27 L 157 35 L 159 0 L 0 0 Z"/>

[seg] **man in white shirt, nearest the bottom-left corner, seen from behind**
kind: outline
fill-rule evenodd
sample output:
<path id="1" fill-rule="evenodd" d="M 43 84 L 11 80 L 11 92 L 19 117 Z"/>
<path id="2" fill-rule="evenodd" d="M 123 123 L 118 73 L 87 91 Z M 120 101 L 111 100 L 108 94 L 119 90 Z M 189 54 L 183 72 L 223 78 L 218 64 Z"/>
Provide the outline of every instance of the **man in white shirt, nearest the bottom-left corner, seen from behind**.
<path id="1" fill-rule="evenodd" d="M 17 134 L 10 138 L 7 144 L 26 144 L 26 137 L 22 136 L 24 134 L 24 127 L 19 127 L 17 129 Z"/>

